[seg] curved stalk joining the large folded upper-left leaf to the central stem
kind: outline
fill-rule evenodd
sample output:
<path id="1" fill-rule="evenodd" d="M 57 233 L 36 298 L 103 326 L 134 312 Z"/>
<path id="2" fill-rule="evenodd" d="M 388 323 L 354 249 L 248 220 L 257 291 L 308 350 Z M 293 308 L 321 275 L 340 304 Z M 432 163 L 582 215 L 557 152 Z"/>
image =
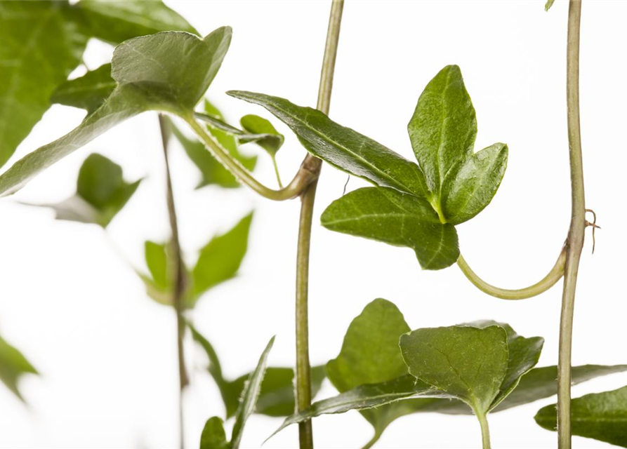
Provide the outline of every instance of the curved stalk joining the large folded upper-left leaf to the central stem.
<path id="1" fill-rule="evenodd" d="M 265 196 L 265 198 L 275 201 L 284 201 L 286 199 L 296 198 L 308 185 L 311 184 L 311 182 L 315 181 L 319 175 L 319 170 L 317 170 L 319 164 L 315 163 L 315 161 L 311 159 L 308 159 L 308 157 L 305 157 L 305 160 L 301 164 L 301 168 L 298 168 L 298 172 L 288 185 L 278 190 L 270 189 L 270 187 L 267 187 L 256 180 L 249 170 L 246 170 L 246 168 L 242 166 L 242 163 L 237 161 L 237 159 L 234 159 L 229 152 L 223 149 L 223 147 L 220 147 L 220 144 L 218 144 L 218 142 L 216 142 L 216 140 L 214 140 L 213 137 L 207 133 L 204 126 L 194 119 L 194 114 L 190 114 L 189 116 L 184 117 L 184 119 L 192 128 L 194 133 L 196 133 L 200 140 L 202 140 L 205 147 L 209 149 L 209 152 L 211 152 L 211 154 L 218 159 L 218 161 L 220 161 L 220 163 L 222 163 L 223 166 L 225 166 L 225 168 L 229 170 L 230 173 L 237 178 L 237 180 L 239 180 L 239 182 L 247 185 L 261 196 Z M 315 160 L 317 161 L 317 159 Z"/>

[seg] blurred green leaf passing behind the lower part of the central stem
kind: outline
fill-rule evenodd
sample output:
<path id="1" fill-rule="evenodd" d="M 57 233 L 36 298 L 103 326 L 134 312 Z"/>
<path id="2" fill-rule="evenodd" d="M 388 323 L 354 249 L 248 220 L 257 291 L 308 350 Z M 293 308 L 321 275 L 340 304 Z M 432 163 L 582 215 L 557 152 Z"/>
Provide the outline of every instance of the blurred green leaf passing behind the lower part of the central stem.
<path id="1" fill-rule="evenodd" d="M 209 366 L 207 370 L 213 380 L 216 381 L 220 395 L 222 396 L 227 418 L 235 415 L 239 398 L 242 397 L 242 391 L 246 385 L 246 380 L 251 373 L 237 377 L 235 380 L 225 380 L 220 366 L 220 360 L 213 345 L 203 335 L 201 335 L 193 326 L 192 337 L 204 349 L 207 358 L 209 358 Z M 293 386 L 293 369 L 292 368 L 276 368 L 269 367 L 265 370 L 265 376 L 261 383 L 261 391 L 257 400 L 255 413 L 268 415 L 273 417 L 283 417 L 291 415 L 294 411 L 294 386 Z M 315 397 L 322 381 L 324 380 L 324 366 L 313 366 L 311 368 L 312 380 L 312 397 Z"/>

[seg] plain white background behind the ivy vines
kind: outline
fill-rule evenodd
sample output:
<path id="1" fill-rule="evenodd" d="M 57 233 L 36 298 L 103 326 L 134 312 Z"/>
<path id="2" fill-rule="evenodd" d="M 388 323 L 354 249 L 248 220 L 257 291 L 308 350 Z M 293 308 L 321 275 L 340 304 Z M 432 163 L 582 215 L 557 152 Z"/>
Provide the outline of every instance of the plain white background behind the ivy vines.
<path id="1" fill-rule="evenodd" d="M 209 98 L 237 122 L 260 107 L 223 93 L 245 89 L 315 105 L 329 13 L 328 1 L 169 1 L 203 34 L 232 25 L 234 38 Z M 506 142 L 509 164 L 501 189 L 475 220 L 458 227 L 461 250 L 487 281 L 515 288 L 552 266 L 569 225 L 570 193 L 565 105 L 567 4 L 550 13 L 543 1 L 347 1 L 331 102 L 331 117 L 412 157 L 407 121 L 418 95 L 447 64 L 460 65 L 473 98 L 476 149 Z M 624 18 L 627 3 L 586 1 L 581 23 L 581 125 L 586 200 L 602 231 L 581 261 L 574 322 L 574 364 L 626 363 L 627 311 L 623 254 L 623 180 L 627 93 Z M 111 48 L 91 43 L 92 69 Z M 79 72 L 77 72 L 78 74 Z M 71 130 L 84 112 L 55 106 L 20 146 L 11 163 Z M 276 120 L 274 120 L 277 123 Z M 284 179 L 304 151 L 282 124 Z M 147 177 L 107 232 L 53 220 L 49 210 L 17 201 L 48 202 L 74 192 L 90 152 L 124 166 L 128 180 Z M 255 147 L 250 152 L 258 152 Z M 259 152 L 260 154 L 260 152 Z M 235 281 L 212 290 L 194 321 L 215 344 L 225 375 L 250 370 L 271 335 L 274 366 L 294 359 L 293 294 L 298 201 L 272 203 L 246 189 L 194 191 L 199 173 L 174 148 L 173 182 L 187 259 L 216 232 L 255 209 L 249 254 Z M 8 167 L 8 165 L 6 166 Z M 5 167 L 5 169 L 6 169 Z M 260 154 L 256 175 L 272 185 Z M 510 323 L 525 336 L 546 338 L 541 366 L 557 361 L 561 283 L 522 302 L 496 300 L 456 267 L 422 272 L 414 253 L 335 234 L 319 214 L 341 196 L 346 175 L 325 166 L 313 229 L 310 340 L 312 363 L 338 354 L 345 329 L 367 302 L 385 297 L 411 328 L 475 319 Z M 363 185 L 354 178 L 349 189 Z M 154 114 L 143 114 L 39 175 L 0 202 L 0 330 L 41 371 L 22 391 L 29 406 L 0 388 L 0 445 L 54 448 L 171 448 L 177 441 L 174 317 L 149 300 L 132 267 L 145 269 L 143 241 L 168 237 L 164 177 Z M 130 264 L 126 262 L 130 261 Z M 202 371 L 203 354 L 188 342 L 196 368 L 186 396 L 187 445 L 198 445 L 204 421 L 223 415 L 218 390 Z M 614 375 L 574 387 L 574 396 L 621 387 Z M 318 396 L 335 393 L 325 383 Z M 552 448 L 555 433 L 533 416 L 555 398 L 491 415 L 495 448 Z M 258 447 L 280 420 L 254 416 L 244 447 Z M 229 424 L 230 426 L 231 424 Z M 314 422 L 319 448 L 357 448 L 371 436 L 357 412 Z M 265 448 L 294 448 L 296 427 Z M 381 448 L 476 448 L 474 417 L 410 415 L 385 432 Z M 574 437 L 579 448 L 604 444 Z"/>

